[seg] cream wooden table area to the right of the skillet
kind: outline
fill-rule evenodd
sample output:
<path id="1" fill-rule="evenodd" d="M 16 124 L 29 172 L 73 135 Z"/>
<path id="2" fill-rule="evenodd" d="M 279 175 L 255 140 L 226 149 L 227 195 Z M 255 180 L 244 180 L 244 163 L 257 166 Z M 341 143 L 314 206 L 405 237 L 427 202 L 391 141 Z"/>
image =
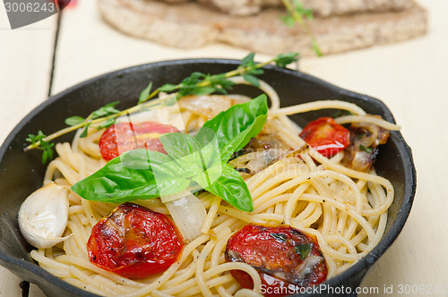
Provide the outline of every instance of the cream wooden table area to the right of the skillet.
<path id="1" fill-rule="evenodd" d="M 393 287 L 399 295 L 402 285 L 427 288 L 412 295 L 447 296 L 448 216 L 444 155 L 448 137 L 444 121 L 448 108 L 448 21 L 444 0 L 421 1 L 429 11 L 429 32 L 422 38 L 386 47 L 306 59 L 301 65 L 323 80 L 346 89 L 380 98 L 390 107 L 408 142 L 417 166 L 418 187 L 414 204 L 400 236 L 378 260 L 362 286 Z M 446 292 L 446 291 L 445 291 Z M 366 294 L 367 296 L 368 294 Z"/>

